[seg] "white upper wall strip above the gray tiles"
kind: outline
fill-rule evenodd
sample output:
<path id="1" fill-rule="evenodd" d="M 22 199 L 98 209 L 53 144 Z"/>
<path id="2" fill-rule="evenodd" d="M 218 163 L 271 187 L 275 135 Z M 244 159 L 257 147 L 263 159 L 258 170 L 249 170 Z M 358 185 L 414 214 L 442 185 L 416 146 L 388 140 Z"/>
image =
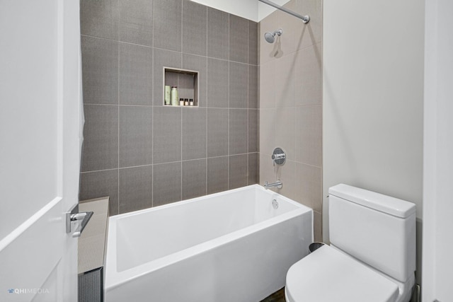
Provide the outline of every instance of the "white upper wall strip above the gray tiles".
<path id="1" fill-rule="evenodd" d="M 258 0 L 191 0 L 205 6 L 217 8 L 220 11 L 226 11 L 236 16 L 259 22 L 266 16 L 275 11 L 275 8 L 263 4 Z M 271 0 L 275 4 L 282 6 L 289 0 Z"/>

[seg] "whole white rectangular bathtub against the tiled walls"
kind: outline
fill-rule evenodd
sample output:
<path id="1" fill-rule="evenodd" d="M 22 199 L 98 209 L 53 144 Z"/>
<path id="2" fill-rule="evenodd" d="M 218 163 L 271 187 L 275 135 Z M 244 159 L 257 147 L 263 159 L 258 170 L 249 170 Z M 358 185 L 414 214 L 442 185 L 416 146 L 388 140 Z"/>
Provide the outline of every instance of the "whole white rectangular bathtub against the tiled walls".
<path id="1" fill-rule="evenodd" d="M 258 302 L 312 241 L 313 211 L 260 185 L 112 216 L 105 301 Z"/>

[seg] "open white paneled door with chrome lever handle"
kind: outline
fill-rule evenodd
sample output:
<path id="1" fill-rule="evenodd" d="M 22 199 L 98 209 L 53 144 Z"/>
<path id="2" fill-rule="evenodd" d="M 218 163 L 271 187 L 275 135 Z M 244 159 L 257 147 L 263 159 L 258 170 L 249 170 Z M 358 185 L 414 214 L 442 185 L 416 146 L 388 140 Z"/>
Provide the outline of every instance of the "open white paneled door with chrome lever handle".
<path id="1" fill-rule="evenodd" d="M 79 0 L 0 0 L 0 301 L 76 301 Z"/>

